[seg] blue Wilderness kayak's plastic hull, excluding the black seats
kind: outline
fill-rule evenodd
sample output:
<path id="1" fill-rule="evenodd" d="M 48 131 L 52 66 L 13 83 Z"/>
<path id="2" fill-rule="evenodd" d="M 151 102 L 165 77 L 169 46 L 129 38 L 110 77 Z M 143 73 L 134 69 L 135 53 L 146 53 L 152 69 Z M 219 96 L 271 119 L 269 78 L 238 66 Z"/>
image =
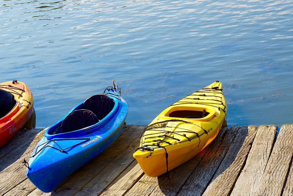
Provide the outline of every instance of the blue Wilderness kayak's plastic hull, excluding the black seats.
<path id="1" fill-rule="evenodd" d="M 45 131 L 44 138 L 31 155 L 26 171 L 30 181 L 41 191 L 53 191 L 71 173 L 99 155 L 119 137 L 128 105 L 116 90 L 107 93 L 115 101 L 115 106 L 95 125 L 68 133 L 58 132 L 62 120 L 71 111 L 78 110 L 82 102 Z"/>

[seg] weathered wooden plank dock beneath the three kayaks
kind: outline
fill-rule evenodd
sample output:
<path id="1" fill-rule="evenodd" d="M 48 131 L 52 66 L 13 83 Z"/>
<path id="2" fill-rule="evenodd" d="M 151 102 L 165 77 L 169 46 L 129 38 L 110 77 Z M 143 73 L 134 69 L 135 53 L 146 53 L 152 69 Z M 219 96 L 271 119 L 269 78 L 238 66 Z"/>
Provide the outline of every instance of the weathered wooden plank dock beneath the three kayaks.
<path id="1" fill-rule="evenodd" d="M 165 175 L 144 175 L 132 157 L 144 126 L 127 125 L 102 154 L 54 192 L 43 193 L 25 176 L 42 129 L 21 131 L 0 148 L 0 195 L 293 195 L 293 125 L 234 126 L 200 154 Z M 155 164 L 155 163 L 154 163 Z"/>

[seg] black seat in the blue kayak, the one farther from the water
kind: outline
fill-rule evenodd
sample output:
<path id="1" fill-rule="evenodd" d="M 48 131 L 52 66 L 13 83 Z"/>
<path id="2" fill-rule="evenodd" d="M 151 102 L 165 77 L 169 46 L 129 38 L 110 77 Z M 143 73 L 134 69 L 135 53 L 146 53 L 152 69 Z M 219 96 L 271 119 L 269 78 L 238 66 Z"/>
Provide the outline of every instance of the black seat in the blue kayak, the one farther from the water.
<path id="1" fill-rule="evenodd" d="M 98 123 L 99 120 L 89 110 L 75 110 L 69 113 L 62 121 L 62 133 L 79 130 Z"/>

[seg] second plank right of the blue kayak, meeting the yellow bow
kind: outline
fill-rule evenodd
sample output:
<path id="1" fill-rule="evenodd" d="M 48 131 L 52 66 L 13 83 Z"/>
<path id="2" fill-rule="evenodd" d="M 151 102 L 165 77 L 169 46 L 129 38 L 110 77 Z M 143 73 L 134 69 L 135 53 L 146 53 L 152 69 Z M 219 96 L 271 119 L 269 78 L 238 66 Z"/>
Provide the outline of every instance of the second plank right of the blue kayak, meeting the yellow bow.
<path id="1" fill-rule="evenodd" d="M 77 195 L 100 195 L 133 161 L 132 154 L 139 147 L 140 135 L 117 158 L 86 184 Z"/>

